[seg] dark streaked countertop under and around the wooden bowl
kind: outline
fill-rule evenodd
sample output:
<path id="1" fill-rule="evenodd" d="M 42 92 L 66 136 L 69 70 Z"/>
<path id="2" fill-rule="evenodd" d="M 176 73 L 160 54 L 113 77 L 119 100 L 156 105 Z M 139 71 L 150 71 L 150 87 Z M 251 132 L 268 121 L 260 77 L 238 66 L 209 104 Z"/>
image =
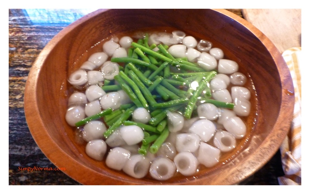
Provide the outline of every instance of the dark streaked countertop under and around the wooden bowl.
<path id="1" fill-rule="evenodd" d="M 242 17 L 241 9 L 229 9 Z M 29 11 L 31 12 L 31 11 Z M 73 19 L 83 15 L 78 10 L 50 13 L 54 23 L 40 23 L 21 9 L 9 10 L 9 185 L 78 185 L 62 171 L 21 170 L 22 167 L 52 167 L 33 140 L 24 115 L 24 89 L 31 65 L 42 48 Z M 69 14 L 68 13 L 73 13 Z M 66 15 L 67 14 L 67 15 Z M 55 18 L 56 17 L 56 18 Z M 63 20 L 63 21 L 61 21 Z M 257 173 L 240 184 L 277 185 L 282 176 L 277 154 Z"/>

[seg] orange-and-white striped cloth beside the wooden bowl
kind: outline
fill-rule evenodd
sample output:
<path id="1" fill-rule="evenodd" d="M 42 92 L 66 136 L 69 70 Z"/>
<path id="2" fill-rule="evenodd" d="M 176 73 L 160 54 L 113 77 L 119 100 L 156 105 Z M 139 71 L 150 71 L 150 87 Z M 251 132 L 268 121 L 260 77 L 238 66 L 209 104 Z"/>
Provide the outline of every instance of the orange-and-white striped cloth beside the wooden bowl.
<path id="1" fill-rule="evenodd" d="M 282 53 L 294 85 L 295 105 L 291 129 L 281 144 L 281 160 L 285 175 L 278 177 L 280 185 L 301 185 L 301 47 L 293 47 Z"/>

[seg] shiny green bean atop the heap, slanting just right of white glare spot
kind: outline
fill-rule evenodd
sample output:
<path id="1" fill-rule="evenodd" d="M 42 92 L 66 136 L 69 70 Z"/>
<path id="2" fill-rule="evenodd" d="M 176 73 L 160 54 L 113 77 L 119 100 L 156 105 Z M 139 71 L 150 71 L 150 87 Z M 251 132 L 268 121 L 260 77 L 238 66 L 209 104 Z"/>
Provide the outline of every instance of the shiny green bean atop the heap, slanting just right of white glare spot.
<path id="1" fill-rule="evenodd" d="M 212 71 L 205 79 L 203 79 L 200 85 L 196 88 L 196 91 L 193 92 L 193 95 L 190 97 L 187 107 L 184 111 L 184 117 L 186 119 L 191 118 L 194 106 L 196 105 L 197 98 L 200 96 L 202 90 L 206 87 L 208 82 L 216 75 L 216 71 Z"/>

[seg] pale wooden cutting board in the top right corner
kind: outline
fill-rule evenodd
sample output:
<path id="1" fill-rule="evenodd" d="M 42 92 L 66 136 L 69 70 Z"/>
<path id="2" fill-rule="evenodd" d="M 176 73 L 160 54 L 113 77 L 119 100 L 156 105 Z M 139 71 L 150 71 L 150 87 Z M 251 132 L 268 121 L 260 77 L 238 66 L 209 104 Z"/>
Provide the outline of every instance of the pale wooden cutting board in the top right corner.
<path id="1" fill-rule="evenodd" d="M 301 47 L 301 9 L 242 9 L 243 17 L 262 31 L 282 53 Z"/>

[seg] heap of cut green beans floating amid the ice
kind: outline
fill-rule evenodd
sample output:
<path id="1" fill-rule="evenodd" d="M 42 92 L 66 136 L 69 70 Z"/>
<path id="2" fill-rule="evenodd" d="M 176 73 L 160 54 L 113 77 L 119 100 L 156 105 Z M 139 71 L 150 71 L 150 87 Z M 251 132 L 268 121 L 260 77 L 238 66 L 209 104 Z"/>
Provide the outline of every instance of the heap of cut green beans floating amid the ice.
<path id="1" fill-rule="evenodd" d="M 158 47 L 158 51 L 153 48 Z M 215 70 L 206 71 L 186 58 L 175 59 L 167 51 L 166 45 L 148 45 L 148 34 L 137 43 L 133 42 L 128 56 L 111 58 L 112 62 L 123 66 L 114 80 L 106 80 L 102 89 L 105 92 L 124 90 L 131 104 L 122 105 L 117 110 L 107 109 L 76 123 L 86 124 L 90 120 L 103 118 L 108 129 L 104 137 L 108 138 L 121 125 L 137 125 L 144 130 L 144 139 L 139 153 L 156 153 L 169 135 L 167 111 L 178 111 L 186 119 L 196 114 L 197 103 L 208 102 L 218 107 L 233 108 L 232 103 L 210 99 L 210 80 L 217 74 Z M 177 72 L 171 71 L 178 69 Z M 197 81 L 199 86 L 191 88 Z M 131 120 L 137 107 L 146 108 L 151 115 L 148 124 Z"/>

